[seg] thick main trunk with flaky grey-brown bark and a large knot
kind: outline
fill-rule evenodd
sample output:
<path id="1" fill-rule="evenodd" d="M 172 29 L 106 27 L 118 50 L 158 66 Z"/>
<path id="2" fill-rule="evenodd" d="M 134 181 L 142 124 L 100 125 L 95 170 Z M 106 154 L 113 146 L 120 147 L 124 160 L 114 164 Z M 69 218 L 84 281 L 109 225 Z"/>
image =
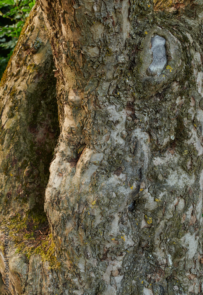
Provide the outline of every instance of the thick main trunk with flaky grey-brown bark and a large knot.
<path id="1" fill-rule="evenodd" d="M 31 256 L 22 294 L 202 294 L 203 1 L 40 2 L 57 69 L 45 210 L 61 269 Z"/>

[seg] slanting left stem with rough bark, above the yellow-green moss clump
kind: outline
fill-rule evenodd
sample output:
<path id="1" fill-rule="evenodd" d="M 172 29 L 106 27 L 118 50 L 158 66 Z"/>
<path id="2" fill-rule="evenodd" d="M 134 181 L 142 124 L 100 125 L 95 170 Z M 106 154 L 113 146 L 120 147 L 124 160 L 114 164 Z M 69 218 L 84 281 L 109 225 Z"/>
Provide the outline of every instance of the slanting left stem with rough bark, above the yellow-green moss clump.
<path id="1" fill-rule="evenodd" d="M 22 203 L 25 210 L 44 203 L 58 132 L 55 67 L 44 26 L 35 7 L 1 79 L 3 215 L 13 214 Z"/>

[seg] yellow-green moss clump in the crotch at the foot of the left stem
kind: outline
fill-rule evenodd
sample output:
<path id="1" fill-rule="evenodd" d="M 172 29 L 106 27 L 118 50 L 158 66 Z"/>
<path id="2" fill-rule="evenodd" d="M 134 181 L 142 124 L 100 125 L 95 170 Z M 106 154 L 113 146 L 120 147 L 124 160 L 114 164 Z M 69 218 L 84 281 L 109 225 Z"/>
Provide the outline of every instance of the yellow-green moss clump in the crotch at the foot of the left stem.
<path id="1" fill-rule="evenodd" d="M 60 269 L 61 264 L 55 256 L 55 244 L 52 235 L 47 235 L 48 221 L 43 208 L 35 207 L 28 211 L 25 217 L 16 213 L 9 220 L 1 220 L 1 224 L 9 228 L 16 253 L 24 253 L 28 259 L 31 255 L 40 254 L 43 262 L 49 262 L 50 269 Z M 43 229 L 46 229 L 46 231 L 44 232 Z M 35 242 L 37 242 L 36 245 L 34 245 Z"/>

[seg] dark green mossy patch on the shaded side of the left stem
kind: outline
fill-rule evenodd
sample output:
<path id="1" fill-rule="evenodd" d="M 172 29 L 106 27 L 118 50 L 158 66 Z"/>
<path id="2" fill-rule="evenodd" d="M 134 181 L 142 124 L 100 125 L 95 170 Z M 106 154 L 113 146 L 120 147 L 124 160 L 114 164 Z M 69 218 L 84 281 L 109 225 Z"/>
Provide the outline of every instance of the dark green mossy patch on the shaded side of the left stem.
<path id="1" fill-rule="evenodd" d="M 29 67 L 32 70 L 34 64 L 31 64 Z M 36 170 L 37 168 L 40 173 L 38 196 L 43 201 L 49 176 L 49 163 L 51 162 L 52 152 L 55 147 L 55 138 L 59 134 L 57 101 L 55 99 L 56 84 L 53 83 L 56 82 L 56 78 L 53 78 L 52 67 L 50 72 L 51 75 L 49 76 L 47 76 L 47 73 L 44 73 L 46 80 L 42 78 L 37 83 L 35 90 L 27 95 L 25 100 L 26 107 L 23 99 L 22 103 L 20 103 L 21 101 L 16 98 L 17 91 L 15 86 L 11 89 L 9 97 L 10 107 L 7 115 L 9 118 L 12 118 L 16 111 L 18 111 L 18 114 L 16 114 L 15 120 L 12 121 L 13 123 L 9 126 L 9 129 L 3 129 L 0 134 L 1 148 L 8 150 L 7 157 L 4 157 L 0 169 L 4 175 L 9 176 L 9 178 L 15 177 L 22 184 L 22 189 L 25 190 L 25 195 L 27 195 L 26 197 L 22 198 L 22 196 L 16 193 L 15 189 L 12 191 L 15 201 L 21 203 L 25 203 L 32 194 L 36 196 L 35 189 L 27 189 L 26 187 L 31 176 L 26 176 L 26 178 L 23 177 L 22 179 L 22 171 L 25 171 L 28 162 L 31 163 L 33 169 Z M 41 73 L 37 74 L 41 75 Z M 41 122 L 45 122 L 48 127 L 45 130 L 45 142 L 37 139 L 38 134 L 41 132 Z M 25 126 L 27 126 L 26 129 Z M 19 131 L 16 132 L 16 130 Z M 50 134 L 54 138 L 50 137 Z M 17 163 L 20 165 L 20 170 L 17 168 Z M 32 177 L 31 182 L 33 181 L 35 181 L 35 176 L 34 178 Z"/>

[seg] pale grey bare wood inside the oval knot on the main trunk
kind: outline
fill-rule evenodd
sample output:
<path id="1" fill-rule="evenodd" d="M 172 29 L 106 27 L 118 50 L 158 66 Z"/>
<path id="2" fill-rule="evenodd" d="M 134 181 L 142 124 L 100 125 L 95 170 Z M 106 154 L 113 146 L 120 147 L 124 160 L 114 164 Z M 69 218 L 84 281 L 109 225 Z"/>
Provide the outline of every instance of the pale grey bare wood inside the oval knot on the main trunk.
<path id="1" fill-rule="evenodd" d="M 158 35 L 151 38 L 153 61 L 147 69 L 150 76 L 159 76 L 167 63 L 165 42 L 166 40 Z"/>

